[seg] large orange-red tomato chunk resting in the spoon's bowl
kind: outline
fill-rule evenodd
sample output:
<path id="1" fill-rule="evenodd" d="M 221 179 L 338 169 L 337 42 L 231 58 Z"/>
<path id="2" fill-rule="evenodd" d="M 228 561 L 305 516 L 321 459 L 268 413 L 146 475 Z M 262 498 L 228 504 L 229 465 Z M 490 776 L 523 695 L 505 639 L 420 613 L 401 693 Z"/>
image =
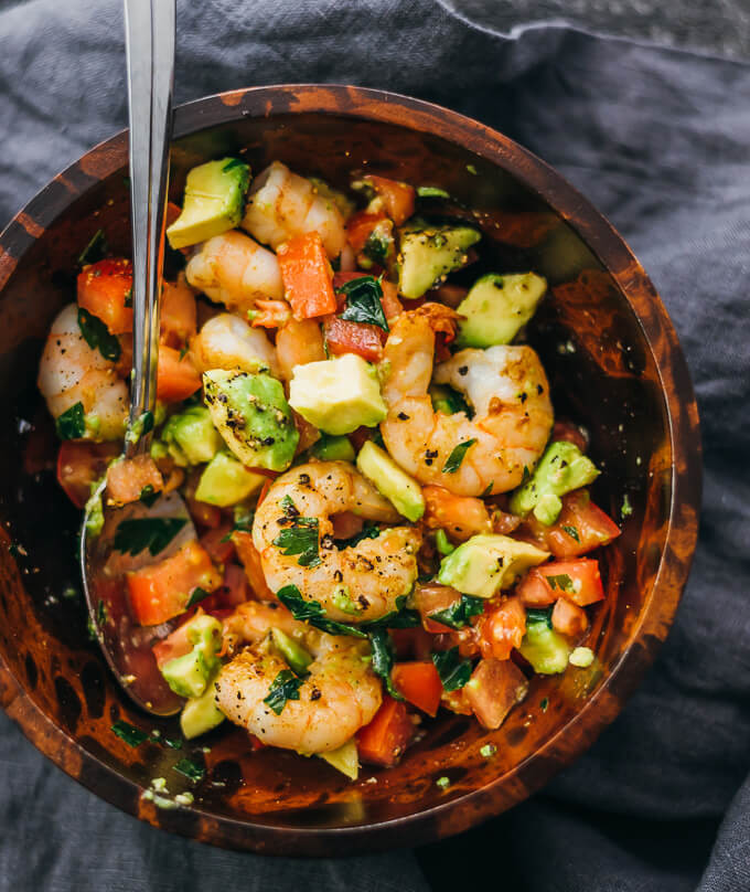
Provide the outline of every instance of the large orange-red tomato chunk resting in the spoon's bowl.
<path id="1" fill-rule="evenodd" d="M 188 542 L 171 558 L 127 574 L 133 618 L 141 626 L 158 626 L 184 613 L 196 588 L 213 592 L 222 576 L 197 541 Z"/>

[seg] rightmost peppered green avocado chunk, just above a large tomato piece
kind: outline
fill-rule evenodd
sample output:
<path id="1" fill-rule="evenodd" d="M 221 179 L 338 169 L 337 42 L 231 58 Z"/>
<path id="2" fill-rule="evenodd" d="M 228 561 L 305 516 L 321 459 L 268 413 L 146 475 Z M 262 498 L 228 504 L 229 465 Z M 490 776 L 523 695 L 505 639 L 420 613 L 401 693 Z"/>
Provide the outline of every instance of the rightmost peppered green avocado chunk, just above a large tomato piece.
<path id="1" fill-rule="evenodd" d="M 560 496 L 588 486 L 598 476 L 597 466 L 575 443 L 550 443 L 534 474 L 511 496 L 511 511 L 522 516 L 533 511 L 538 521 L 550 525 L 562 508 Z"/>

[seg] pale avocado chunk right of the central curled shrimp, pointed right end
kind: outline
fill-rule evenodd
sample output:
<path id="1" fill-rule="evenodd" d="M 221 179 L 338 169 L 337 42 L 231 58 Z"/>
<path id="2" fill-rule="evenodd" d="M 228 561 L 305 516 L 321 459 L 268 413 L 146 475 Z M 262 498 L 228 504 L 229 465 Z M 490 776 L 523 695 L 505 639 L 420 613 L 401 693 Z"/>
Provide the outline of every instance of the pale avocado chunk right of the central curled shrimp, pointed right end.
<path id="1" fill-rule="evenodd" d="M 464 595 L 492 597 L 547 558 L 548 552 L 507 535 L 472 535 L 442 559 L 438 582 Z"/>

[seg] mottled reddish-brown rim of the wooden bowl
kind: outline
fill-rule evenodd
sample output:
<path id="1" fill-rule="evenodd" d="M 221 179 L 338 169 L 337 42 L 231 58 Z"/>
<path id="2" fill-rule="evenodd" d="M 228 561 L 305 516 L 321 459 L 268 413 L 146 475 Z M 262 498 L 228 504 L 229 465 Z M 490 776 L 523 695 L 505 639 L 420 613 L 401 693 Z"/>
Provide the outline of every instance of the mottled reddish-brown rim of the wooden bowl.
<path id="1" fill-rule="evenodd" d="M 658 373 L 673 456 L 666 541 L 652 593 L 610 676 L 564 728 L 510 772 L 485 787 L 410 815 L 367 825 L 293 828 L 218 816 L 200 806 L 174 811 L 147 806 L 140 800 L 142 788 L 45 715 L 0 657 L 0 703 L 6 712 L 42 753 L 109 803 L 153 826 L 218 846 L 287 856 L 349 854 L 427 842 L 499 815 L 546 784 L 612 722 L 653 662 L 687 581 L 700 507 L 700 433 L 687 363 L 651 280 L 609 221 L 545 161 L 499 131 L 442 106 L 335 84 L 247 87 L 194 99 L 175 107 L 173 140 L 242 117 L 287 114 L 349 116 L 429 132 L 503 168 L 547 202 L 601 262 L 638 319 Z M 127 130 L 121 130 L 69 164 L 18 212 L 0 233 L 0 291 L 18 262 L 61 213 L 127 166 Z"/>

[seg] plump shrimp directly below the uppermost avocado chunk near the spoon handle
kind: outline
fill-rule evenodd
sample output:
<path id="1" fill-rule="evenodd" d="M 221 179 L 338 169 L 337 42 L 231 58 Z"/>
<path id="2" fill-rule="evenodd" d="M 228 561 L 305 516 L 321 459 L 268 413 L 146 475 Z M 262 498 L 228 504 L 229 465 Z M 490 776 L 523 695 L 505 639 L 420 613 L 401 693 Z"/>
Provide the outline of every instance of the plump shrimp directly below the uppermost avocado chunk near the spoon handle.
<path id="1" fill-rule="evenodd" d="M 185 276 L 212 300 L 242 314 L 258 298 L 283 296 L 276 254 L 237 230 L 204 242 L 188 262 Z"/>

